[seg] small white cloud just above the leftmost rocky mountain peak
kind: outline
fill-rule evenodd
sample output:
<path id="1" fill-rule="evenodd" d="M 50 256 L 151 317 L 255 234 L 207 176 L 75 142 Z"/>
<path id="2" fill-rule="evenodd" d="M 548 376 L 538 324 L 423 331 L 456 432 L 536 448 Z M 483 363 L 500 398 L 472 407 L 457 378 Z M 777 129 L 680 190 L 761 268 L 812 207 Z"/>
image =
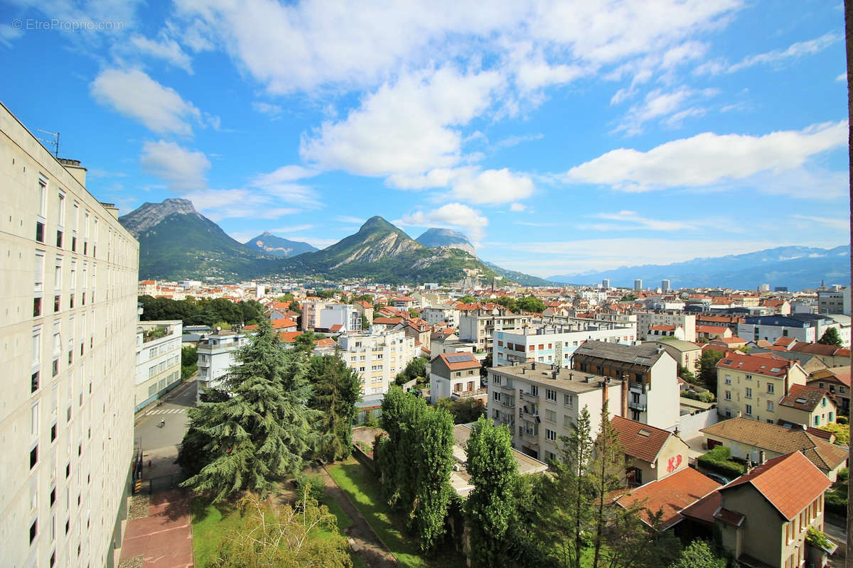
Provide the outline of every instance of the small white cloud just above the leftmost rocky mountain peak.
<path id="1" fill-rule="evenodd" d="M 204 153 L 162 140 L 145 142 L 139 162 L 142 169 L 156 175 L 178 193 L 206 187 L 206 174 L 211 167 Z"/>

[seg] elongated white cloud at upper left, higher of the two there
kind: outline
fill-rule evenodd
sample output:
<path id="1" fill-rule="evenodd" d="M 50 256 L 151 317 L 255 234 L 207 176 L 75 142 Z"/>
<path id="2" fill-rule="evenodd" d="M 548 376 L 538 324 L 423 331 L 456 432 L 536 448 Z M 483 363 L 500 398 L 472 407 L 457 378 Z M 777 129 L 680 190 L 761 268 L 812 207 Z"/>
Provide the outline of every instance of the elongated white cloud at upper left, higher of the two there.
<path id="1" fill-rule="evenodd" d="M 158 134 L 191 135 L 190 122 L 201 112 L 175 89 L 164 87 L 138 69 L 106 69 L 90 84 L 95 100 L 144 124 Z"/>

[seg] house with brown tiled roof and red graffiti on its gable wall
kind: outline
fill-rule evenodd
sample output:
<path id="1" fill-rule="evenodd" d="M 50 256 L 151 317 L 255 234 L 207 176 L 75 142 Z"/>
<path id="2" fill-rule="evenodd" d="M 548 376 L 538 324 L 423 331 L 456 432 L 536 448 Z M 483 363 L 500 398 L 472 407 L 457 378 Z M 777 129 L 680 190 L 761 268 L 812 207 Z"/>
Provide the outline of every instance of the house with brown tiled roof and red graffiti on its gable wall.
<path id="1" fill-rule="evenodd" d="M 629 486 L 664 479 L 688 467 L 690 446 L 676 434 L 622 416 L 613 416 L 610 423 L 628 460 Z"/>

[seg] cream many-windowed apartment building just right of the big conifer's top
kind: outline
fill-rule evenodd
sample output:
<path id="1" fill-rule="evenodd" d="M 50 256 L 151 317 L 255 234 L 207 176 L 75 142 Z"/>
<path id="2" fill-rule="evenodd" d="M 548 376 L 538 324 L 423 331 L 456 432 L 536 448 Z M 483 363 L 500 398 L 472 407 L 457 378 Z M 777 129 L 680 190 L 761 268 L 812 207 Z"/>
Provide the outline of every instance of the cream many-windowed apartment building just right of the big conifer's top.
<path id="1" fill-rule="evenodd" d="M 368 333 L 339 336 L 338 345 L 340 358 L 361 374 L 365 397 L 387 393 L 397 373 L 421 350 L 403 330 L 378 330 L 373 326 Z"/>

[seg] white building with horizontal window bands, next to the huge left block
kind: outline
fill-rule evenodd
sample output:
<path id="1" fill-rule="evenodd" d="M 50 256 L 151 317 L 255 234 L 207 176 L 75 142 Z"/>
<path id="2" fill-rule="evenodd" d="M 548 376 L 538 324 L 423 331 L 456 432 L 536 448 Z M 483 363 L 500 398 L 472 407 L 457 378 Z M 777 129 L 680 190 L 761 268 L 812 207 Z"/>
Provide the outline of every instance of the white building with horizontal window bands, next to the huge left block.
<path id="1" fill-rule="evenodd" d="M 181 382 L 180 319 L 136 324 L 136 387 L 133 409 L 159 399 Z"/>

